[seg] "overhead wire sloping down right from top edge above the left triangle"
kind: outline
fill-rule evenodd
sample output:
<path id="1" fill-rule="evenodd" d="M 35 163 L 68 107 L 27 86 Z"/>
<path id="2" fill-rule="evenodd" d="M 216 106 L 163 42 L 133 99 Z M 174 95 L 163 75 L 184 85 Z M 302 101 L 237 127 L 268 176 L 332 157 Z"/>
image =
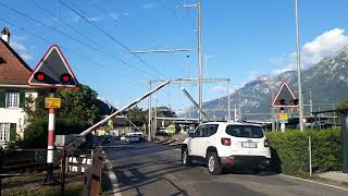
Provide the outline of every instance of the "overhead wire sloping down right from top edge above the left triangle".
<path id="1" fill-rule="evenodd" d="M 82 17 L 84 21 L 86 21 L 88 24 L 90 24 L 91 26 L 96 27 L 100 33 L 102 33 L 104 36 L 109 37 L 111 40 L 113 40 L 114 42 L 116 42 L 119 46 L 121 46 L 123 49 L 125 49 L 126 51 L 130 51 L 130 49 L 125 46 L 124 44 L 122 44 L 120 40 L 117 40 L 116 38 L 114 38 L 112 35 L 108 34 L 105 30 L 103 30 L 102 28 L 100 28 L 99 26 L 97 26 L 96 24 L 94 24 L 91 21 L 89 21 L 84 14 L 79 13 L 78 11 L 80 11 L 78 9 L 78 11 L 76 11 L 75 9 L 73 9 L 71 5 L 69 5 L 67 3 L 65 3 L 64 1 L 60 0 L 60 2 L 65 5 L 69 10 L 71 10 L 72 12 L 74 12 L 75 14 L 77 14 L 79 17 Z M 134 57 L 136 57 L 139 61 L 141 61 L 142 63 L 147 64 L 148 66 L 151 68 L 151 65 L 146 62 L 142 58 L 140 58 L 137 54 L 133 54 Z M 161 72 L 159 72 L 156 68 L 152 66 L 152 69 L 160 74 L 161 76 L 164 76 Z M 165 76 L 164 76 L 165 77 Z"/>

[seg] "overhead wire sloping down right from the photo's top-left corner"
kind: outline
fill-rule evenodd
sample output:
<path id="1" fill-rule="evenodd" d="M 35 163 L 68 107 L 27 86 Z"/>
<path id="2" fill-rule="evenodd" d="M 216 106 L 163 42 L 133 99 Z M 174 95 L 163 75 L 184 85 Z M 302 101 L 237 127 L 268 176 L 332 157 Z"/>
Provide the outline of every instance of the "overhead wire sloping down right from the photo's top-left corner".
<path id="1" fill-rule="evenodd" d="M 64 32 L 62 32 L 62 30 L 60 30 L 60 29 L 58 29 L 58 28 L 55 28 L 55 27 L 53 27 L 53 26 L 50 26 L 50 25 L 48 25 L 48 24 L 45 24 L 44 22 L 41 22 L 41 21 L 39 21 L 39 20 L 37 20 L 37 19 L 35 19 L 35 17 L 32 17 L 32 16 L 29 16 L 28 14 L 25 14 L 25 13 L 18 11 L 18 10 L 15 10 L 15 9 L 13 9 L 13 8 L 10 8 L 9 5 L 3 4 L 3 3 L 1 3 L 1 2 L 0 2 L 0 5 L 3 7 L 3 8 L 5 8 L 5 9 L 9 9 L 9 10 L 11 10 L 11 11 L 13 11 L 13 12 L 15 12 L 15 13 L 17 13 L 17 14 L 26 17 L 26 19 L 29 19 L 29 20 L 38 23 L 38 24 L 41 24 L 42 26 L 46 26 L 46 27 L 54 30 L 54 32 L 58 33 L 58 34 L 64 35 L 65 37 L 74 40 L 75 42 L 78 42 L 78 44 L 80 44 L 80 45 L 84 45 L 84 46 L 86 46 L 86 47 L 88 47 L 88 48 L 90 48 L 90 49 L 92 49 L 92 50 L 95 50 L 95 51 L 98 51 L 98 52 L 104 54 L 104 56 L 108 56 L 108 57 L 111 58 L 111 59 L 114 59 L 114 60 L 116 60 L 116 61 L 120 61 L 120 62 L 122 62 L 123 64 L 125 64 L 126 66 L 128 66 L 128 68 L 130 68 L 130 69 L 135 69 L 135 70 L 137 70 L 137 71 L 139 71 L 139 72 L 142 72 L 142 73 L 147 74 L 148 76 L 151 76 L 151 75 L 152 75 L 152 74 L 147 73 L 146 71 L 144 71 L 144 70 L 141 70 L 141 69 L 139 69 L 139 68 L 136 68 L 136 66 L 130 65 L 129 63 L 125 62 L 124 60 L 122 60 L 122 59 L 120 59 L 120 58 L 117 58 L 117 57 L 115 57 L 115 56 L 113 56 L 113 54 L 110 54 L 109 52 L 104 52 L 104 51 L 100 50 L 99 48 L 96 48 L 96 47 L 94 47 L 94 46 L 91 46 L 91 45 L 89 45 L 89 44 L 87 44 L 87 42 L 80 41 L 79 39 L 76 39 L 75 37 L 73 37 L 73 36 L 71 36 L 71 35 L 69 35 L 69 34 L 66 34 L 66 33 L 64 33 Z M 153 75 L 153 76 L 154 76 L 154 75 Z"/>

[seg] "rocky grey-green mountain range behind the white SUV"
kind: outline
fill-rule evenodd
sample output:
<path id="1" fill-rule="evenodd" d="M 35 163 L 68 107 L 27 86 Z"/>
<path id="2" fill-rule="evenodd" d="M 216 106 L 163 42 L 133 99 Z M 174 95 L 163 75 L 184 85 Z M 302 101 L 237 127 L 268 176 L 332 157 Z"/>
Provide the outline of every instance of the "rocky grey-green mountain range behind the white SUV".
<path id="1" fill-rule="evenodd" d="M 234 110 L 239 111 L 240 107 L 241 118 L 245 120 L 270 120 L 272 96 L 277 93 L 283 82 L 288 83 L 298 97 L 296 71 L 261 75 L 231 94 L 232 119 Z M 310 69 L 302 70 L 301 82 L 304 114 L 310 114 L 311 110 L 333 109 L 348 99 L 348 47 L 324 58 Z M 312 107 L 309 106 L 311 98 Z M 207 101 L 203 108 L 209 117 L 225 119 L 227 97 Z M 296 115 L 297 110 L 291 112 Z M 184 114 L 187 115 L 188 113 Z M 191 118 L 197 115 L 197 112 L 190 113 Z"/>

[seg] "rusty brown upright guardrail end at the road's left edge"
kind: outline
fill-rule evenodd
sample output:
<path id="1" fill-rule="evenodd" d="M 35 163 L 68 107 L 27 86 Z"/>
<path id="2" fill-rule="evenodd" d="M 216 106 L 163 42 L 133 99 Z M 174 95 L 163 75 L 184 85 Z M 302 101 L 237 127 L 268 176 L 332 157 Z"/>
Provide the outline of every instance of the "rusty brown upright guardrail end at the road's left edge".
<path id="1" fill-rule="evenodd" d="M 103 157 L 102 149 L 97 149 L 96 154 L 92 156 L 92 164 L 87 168 L 85 172 L 84 195 L 86 196 L 98 196 L 102 192 Z"/>

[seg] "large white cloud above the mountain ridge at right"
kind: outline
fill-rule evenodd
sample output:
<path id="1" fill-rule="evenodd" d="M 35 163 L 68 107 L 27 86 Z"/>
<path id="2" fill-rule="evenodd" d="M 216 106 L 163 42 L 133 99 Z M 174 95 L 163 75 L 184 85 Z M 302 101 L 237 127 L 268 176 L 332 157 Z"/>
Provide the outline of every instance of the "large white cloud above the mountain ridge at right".
<path id="1" fill-rule="evenodd" d="M 348 35 L 345 29 L 333 28 L 324 32 L 314 40 L 306 42 L 301 47 L 301 69 L 309 69 L 313 64 L 320 62 L 323 58 L 337 52 L 339 49 L 348 45 Z M 274 74 L 296 69 L 296 52 L 278 58 L 272 58 L 272 64 L 282 65 L 283 68 L 273 70 Z"/>

